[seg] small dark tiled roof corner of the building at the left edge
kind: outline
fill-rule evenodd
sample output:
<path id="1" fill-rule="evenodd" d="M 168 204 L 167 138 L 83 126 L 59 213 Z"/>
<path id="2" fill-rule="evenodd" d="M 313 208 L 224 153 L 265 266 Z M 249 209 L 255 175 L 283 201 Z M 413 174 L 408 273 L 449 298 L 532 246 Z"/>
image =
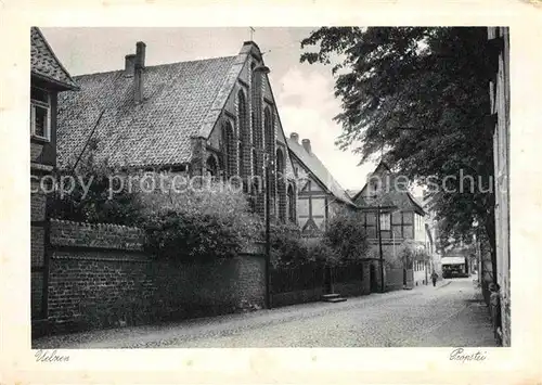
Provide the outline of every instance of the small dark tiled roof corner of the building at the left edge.
<path id="1" fill-rule="evenodd" d="M 30 72 L 66 89 L 78 89 L 37 27 L 30 29 Z"/>

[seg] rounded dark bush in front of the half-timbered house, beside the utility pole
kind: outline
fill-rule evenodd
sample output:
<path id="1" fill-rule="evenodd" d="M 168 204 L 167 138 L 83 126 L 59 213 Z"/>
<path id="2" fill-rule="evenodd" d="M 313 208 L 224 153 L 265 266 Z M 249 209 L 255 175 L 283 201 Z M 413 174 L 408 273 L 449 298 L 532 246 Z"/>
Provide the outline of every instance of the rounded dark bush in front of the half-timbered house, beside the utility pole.
<path id="1" fill-rule="evenodd" d="M 343 259 L 364 258 L 369 242 L 358 211 L 340 210 L 327 223 L 323 242 L 333 247 Z"/>

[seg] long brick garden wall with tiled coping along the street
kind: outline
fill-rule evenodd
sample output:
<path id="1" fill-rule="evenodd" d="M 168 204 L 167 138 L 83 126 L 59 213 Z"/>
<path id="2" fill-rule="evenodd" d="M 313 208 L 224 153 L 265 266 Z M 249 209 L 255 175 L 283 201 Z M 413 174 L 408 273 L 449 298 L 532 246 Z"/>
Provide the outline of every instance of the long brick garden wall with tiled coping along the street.
<path id="1" fill-rule="evenodd" d="M 258 254 L 210 264 L 156 260 L 140 229 L 51 222 L 52 332 L 145 324 L 263 307 Z"/>

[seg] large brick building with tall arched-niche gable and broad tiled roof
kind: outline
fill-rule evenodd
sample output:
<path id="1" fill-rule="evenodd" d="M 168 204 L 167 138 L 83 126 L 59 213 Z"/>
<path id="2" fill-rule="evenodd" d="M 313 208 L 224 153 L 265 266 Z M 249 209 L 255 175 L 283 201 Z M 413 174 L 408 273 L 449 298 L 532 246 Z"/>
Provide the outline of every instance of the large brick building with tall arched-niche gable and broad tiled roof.
<path id="1" fill-rule="evenodd" d="M 73 164 L 92 138 L 111 167 L 243 180 L 254 209 L 295 221 L 286 139 L 256 43 L 233 56 L 145 65 L 146 46 L 125 68 L 77 76 L 81 91 L 60 100 L 59 162 Z"/>

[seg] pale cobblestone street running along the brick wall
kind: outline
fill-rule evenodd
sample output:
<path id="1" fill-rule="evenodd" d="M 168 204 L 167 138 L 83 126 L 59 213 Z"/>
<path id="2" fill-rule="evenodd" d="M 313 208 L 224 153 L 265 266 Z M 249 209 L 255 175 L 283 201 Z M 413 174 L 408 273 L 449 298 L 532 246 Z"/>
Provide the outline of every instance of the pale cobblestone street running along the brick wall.
<path id="1" fill-rule="evenodd" d="M 33 348 L 495 346 L 473 278 L 437 287 L 36 339 Z"/>

